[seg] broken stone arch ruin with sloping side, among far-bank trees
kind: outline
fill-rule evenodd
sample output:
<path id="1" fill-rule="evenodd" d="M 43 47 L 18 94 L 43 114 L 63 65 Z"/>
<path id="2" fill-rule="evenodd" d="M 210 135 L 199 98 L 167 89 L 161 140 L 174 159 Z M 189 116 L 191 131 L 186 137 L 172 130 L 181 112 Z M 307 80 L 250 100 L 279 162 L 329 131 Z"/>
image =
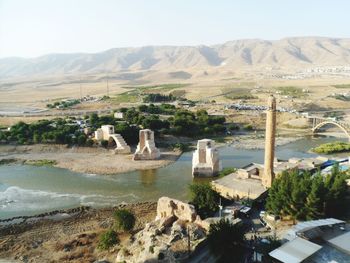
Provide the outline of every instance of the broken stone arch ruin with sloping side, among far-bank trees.
<path id="1" fill-rule="evenodd" d="M 130 146 L 127 145 L 124 138 L 118 134 L 114 133 L 114 126 L 113 125 L 102 125 L 101 128 L 97 129 L 95 131 L 95 140 L 96 141 L 102 141 L 106 140 L 108 141 L 108 147 L 114 148 L 115 153 L 131 153 Z"/>

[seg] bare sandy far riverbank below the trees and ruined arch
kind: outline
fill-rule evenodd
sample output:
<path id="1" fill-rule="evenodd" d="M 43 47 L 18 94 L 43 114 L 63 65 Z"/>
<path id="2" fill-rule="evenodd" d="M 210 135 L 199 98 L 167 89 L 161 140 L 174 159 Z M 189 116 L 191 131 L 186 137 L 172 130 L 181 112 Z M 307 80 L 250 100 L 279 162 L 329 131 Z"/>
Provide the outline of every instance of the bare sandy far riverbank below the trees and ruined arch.
<path id="1" fill-rule="evenodd" d="M 0 162 L 12 160 L 18 163 L 52 162 L 59 168 L 88 174 L 118 174 L 136 170 L 149 170 L 173 163 L 181 151 L 160 149 L 161 158 L 149 161 L 133 161 L 132 154 L 115 154 L 103 148 L 72 147 L 65 145 L 1 145 Z"/>

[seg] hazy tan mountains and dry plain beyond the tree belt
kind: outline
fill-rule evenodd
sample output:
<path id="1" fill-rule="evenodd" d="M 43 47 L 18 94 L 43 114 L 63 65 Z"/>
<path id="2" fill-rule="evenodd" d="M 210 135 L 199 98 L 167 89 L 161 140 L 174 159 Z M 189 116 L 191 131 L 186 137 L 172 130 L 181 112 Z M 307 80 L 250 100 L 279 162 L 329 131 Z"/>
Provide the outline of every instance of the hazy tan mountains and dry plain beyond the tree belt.
<path id="1" fill-rule="evenodd" d="M 18 120 L 6 119 L 8 112 L 29 117 L 39 110 L 36 115 L 50 118 L 109 111 L 138 104 L 145 93 L 171 93 L 202 103 L 243 100 L 260 105 L 274 93 L 281 107 L 347 109 L 349 101 L 334 95 L 349 93 L 349 45 L 349 39 L 300 37 L 0 59 L 0 125 Z M 281 92 L 281 87 L 292 87 L 298 94 Z M 68 110 L 46 108 L 48 103 L 87 95 L 110 99 Z"/>

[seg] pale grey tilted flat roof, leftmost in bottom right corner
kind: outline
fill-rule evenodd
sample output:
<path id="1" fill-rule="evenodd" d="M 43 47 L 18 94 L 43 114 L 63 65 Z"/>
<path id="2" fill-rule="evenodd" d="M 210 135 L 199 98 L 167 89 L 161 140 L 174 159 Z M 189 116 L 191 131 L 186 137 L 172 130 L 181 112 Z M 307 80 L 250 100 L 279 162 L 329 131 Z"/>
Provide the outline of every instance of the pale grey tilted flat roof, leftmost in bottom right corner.
<path id="1" fill-rule="evenodd" d="M 296 237 L 292 241 L 289 241 L 273 250 L 269 255 L 284 263 L 299 263 L 321 248 L 321 246 L 315 243 Z"/>

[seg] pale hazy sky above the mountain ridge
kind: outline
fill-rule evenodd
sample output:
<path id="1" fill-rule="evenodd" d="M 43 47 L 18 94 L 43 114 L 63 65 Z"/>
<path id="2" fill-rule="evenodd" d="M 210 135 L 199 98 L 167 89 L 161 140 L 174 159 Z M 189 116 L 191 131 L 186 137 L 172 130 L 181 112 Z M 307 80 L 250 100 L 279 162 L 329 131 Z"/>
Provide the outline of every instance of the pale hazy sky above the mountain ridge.
<path id="1" fill-rule="evenodd" d="M 349 37 L 349 0 L 0 0 L 0 57 Z"/>

